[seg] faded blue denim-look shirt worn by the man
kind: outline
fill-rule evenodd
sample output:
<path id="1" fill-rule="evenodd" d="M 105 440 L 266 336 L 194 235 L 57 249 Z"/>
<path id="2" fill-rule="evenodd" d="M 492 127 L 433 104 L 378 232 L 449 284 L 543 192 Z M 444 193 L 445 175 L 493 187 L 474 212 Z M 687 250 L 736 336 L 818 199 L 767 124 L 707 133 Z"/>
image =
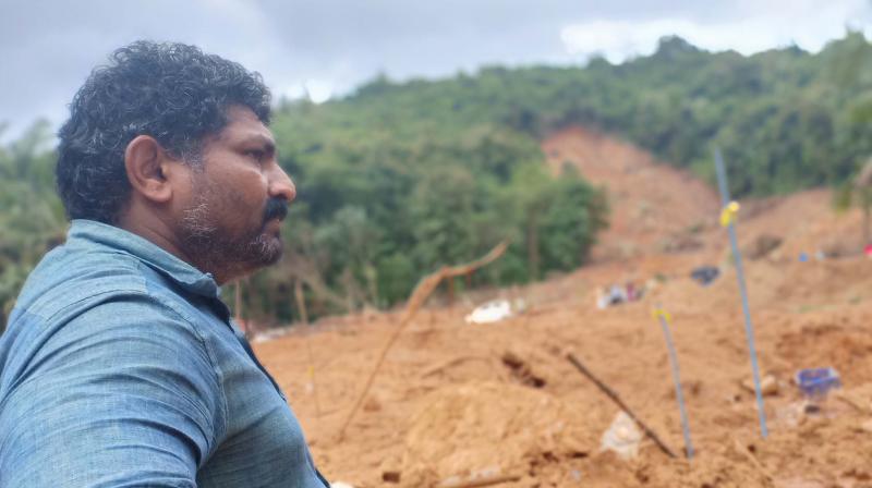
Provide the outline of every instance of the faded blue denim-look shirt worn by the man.
<path id="1" fill-rule="evenodd" d="M 75 220 L 0 337 L 0 487 L 327 486 L 219 289 Z"/>

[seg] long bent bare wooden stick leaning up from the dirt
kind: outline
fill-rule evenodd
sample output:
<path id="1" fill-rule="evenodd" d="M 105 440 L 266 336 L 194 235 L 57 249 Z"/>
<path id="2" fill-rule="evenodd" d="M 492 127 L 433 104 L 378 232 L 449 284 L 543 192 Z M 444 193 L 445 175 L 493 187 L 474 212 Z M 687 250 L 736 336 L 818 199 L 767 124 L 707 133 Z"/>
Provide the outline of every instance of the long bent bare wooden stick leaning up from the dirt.
<path id="1" fill-rule="evenodd" d="M 502 256 L 502 253 L 506 252 L 509 243 L 501 242 L 497 244 L 496 247 L 491 249 L 489 253 L 472 263 L 455 267 L 443 267 L 433 274 L 425 277 L 417 283 L 409 297 L 409 302 L 405 305 L 405 312 L 403 313 L 402 318 L 400 318 L 400 325 L 397 326 L 397 330 L 393 331 L 393 334 L 390 337 L 390 339 L 388 339 L 387 343 L 385 343 L 385 346 L 382 349 L 382 353 L 378 355 L 378 359 L 375 362 L 375 367 L 373 367 L 373 373 L 371 373 L 370 377 L 366 379 L 366 383 L 364 385 L 360 396 L 358 396 L 358 400 L 351 407 L 348 417 L 346 417 L 346 422 L 342 423 L 342 427 L 339 429 L 340 441 L 344 439 L 346 429 L 351 424 L 351 420 L 354 419 L 354 414 L 358 413 L 358 410 L 360 410 L 360 406 L 363 403 L 363 399 L 366 398 L 366 394 L 370 392 L 370 388 L 372 388 L 373 381 L 375 380 L 378 370 L 382 368 L 382 363 L 385 362 L 385 356 L 387 356 L 388 351 L 390 351 L 390 347 L 395 342 L 397 342 L 397 339 L 399 339 L 403 329 L 405 329 L 405 327 L 412 320 L 412 317 L 414 317 L 415 313 L 417 313 L 417 309 L 421 308 L 421 305 L 424 304 L 424 302 L 429 297 L 433 291 L 436 290 L 439 283 L 446 278 L 459 277 L 493 263 Z"/>

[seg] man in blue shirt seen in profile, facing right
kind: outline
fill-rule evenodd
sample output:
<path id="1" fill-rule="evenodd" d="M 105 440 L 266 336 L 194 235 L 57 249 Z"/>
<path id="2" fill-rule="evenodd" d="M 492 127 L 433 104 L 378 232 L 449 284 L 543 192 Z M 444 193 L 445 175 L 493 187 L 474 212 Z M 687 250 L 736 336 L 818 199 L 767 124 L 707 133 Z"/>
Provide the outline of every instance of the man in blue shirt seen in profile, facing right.
<path id="1" fill-rule="evenodd" d="M 60 131 L 72 220 L 0 338 L 0 487 L 328 486 L 218 286 L 281 256 L 294 185 L 256 73 L 135 42 Z"/>

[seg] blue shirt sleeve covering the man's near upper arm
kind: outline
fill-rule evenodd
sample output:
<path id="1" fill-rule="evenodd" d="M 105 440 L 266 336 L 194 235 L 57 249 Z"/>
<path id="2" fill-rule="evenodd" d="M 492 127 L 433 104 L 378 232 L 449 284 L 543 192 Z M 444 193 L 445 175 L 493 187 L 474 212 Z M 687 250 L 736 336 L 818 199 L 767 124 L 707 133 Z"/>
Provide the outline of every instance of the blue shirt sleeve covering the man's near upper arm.
<path id="1" fill-rule="evenodd" d="M 147 296 L 57 327 L 16 382 L 0 405 L 2 487 L 195 487 L 223 428 L 201 335 Z"/>

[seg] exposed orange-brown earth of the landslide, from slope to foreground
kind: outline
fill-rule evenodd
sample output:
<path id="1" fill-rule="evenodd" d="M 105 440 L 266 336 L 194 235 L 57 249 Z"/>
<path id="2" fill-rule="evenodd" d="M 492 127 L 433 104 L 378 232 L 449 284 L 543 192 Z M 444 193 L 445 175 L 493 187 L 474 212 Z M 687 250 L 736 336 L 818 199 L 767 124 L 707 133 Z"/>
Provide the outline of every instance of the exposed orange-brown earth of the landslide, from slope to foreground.
<path id="1" fill-rule="evenodd" d="M 751 366 L 714 191 L 581 129 L 554 135 L 543 150 L 556 172 L 574 164 L 608 191 L 613 224 L 594 263 L 450 306 L 432 300 L 390 350 L 343 439 L 339 428 L 400 312 L 325 319 L 255 344 L 325 475 L 356 488 L 487 479 L 507 488 L 872 487 L 872 260 L 859 253 L 860 212 L 835 212 L 826 191 L 742 202 L 738 232 L 760 365 L 777 386 L 764 398 L 762 439 L 754 394 L 742 386 Z M 707 288 L 690 278 L 701 265 L 722 270 Z M 649 283 L 641 301 L 597 309 L 597 288 L 628 281 Z M 475 305 L 499 297 L 522 298 L 525 312 L 465 324 Z M 656 304 L 673 318 L 690 462 L 650 439 L 633 459 L 602 452 L 618 408 L 566 358 L 579 357 L 681 453 Z M 844 387 L 809 406 L 794 375 L 826 366 Z"/>

